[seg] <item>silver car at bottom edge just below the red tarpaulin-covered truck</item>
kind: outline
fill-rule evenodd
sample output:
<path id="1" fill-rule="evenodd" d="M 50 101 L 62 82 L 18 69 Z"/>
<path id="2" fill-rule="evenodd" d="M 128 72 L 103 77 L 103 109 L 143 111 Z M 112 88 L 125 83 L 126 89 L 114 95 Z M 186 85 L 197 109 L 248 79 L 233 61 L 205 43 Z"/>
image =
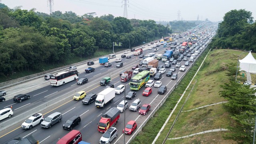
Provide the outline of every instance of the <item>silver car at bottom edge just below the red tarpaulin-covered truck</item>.
<path id="1" fill-rule="evenodd" d="M 115 127 L 110 127 L 100 138 L 100 144 L 110 144 L 117 137 L 118 131 Z"/>

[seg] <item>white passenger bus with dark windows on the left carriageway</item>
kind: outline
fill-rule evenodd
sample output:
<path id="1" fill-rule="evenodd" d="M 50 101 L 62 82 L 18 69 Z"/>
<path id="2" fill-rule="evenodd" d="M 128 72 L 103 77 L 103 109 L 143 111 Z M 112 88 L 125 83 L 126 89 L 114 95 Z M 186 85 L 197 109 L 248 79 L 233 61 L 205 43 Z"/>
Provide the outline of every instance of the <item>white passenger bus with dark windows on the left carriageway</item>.
<path id="1" fill-rule="evenodd" d="M 76 79 L 78 79 L 77 70 L 66 70 L 64 72 L 60 72 L 58 74 L 54 74 L 53 76 L 51 76 L 50 83 L 52 86 L 60 86 Z"/>

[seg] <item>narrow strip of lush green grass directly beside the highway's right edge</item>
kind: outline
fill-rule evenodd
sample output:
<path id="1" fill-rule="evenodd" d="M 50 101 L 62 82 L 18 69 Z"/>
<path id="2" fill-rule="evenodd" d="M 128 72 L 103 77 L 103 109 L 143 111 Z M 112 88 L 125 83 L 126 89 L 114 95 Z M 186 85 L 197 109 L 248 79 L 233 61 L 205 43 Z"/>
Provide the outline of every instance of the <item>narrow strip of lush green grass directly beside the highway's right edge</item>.
<path id="1" fill-rule="evenodd" d="M 162 107 L 154 114 L 153 118 L 150 118 L 148 123 L 142 128 L 142 131 L 131 141 L 131 144 L 149 144 L 152 143 L 159 130 L 162 128 L 162 125 L 168 118 L 170 112 L 173 110 L 174 106 L 180 99 L 180 96 L 188 86 L 190 80 L 192 80 L 194 74 L 198 70 L 200 64 L 204 60 L 209 49 L 205 50 L 201 56 L 198 58 L 194 66 L 190 69 L 190 71 L 184 76 L 178 88 L 176 88 L 170 96 L 167 98 L 166 102 L 162 105 Z M 190 88 L 191 89 L 191 88 Z M 188 91 L 190 90 L 188 89 Z M 187 96 L 187 95 L 186 95 Z M 184 99 L 186 98 L 184 96 Z M 181 103 L 184 100 L 181 101 Z M 174 113 L 175 114 L 175 113 Z M 176 112 L 177 114 L 177 112 Z M 167 124 L 166 127 L 170 128 L 171 124 Z M 160 137 L 159 137 L 160 138 Z M 161 139 L 161 138 L 160 138 Z M 163 140 L 163 138 L 162 138 Z M 158 143 L 158 142 L 156 142 Z"/>

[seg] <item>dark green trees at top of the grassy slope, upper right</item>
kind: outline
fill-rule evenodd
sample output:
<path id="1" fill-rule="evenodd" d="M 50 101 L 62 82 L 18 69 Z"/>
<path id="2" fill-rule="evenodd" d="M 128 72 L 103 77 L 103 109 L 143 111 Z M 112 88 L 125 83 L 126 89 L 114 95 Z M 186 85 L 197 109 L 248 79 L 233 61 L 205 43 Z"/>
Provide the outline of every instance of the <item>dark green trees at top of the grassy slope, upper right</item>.
<path id="1" fill-rule="evenodd" d="M 210 46 L 214 48 L 231 48 L 256 51 L 256 23 L 252 12 L 231 10 L 218 25 L 218 33 Z"/>

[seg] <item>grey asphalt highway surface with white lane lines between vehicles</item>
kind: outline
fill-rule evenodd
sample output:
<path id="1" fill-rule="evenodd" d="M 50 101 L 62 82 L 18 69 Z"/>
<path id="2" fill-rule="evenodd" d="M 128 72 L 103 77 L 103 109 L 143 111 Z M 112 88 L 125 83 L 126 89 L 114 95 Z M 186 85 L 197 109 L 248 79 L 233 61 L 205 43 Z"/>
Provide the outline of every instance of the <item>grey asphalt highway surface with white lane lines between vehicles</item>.
<path id="1" fill-rule="evenodd" d="M 184 41 L 183 38 L 179 38 L 178 42 Z M 143 54 L 148 54 L 150 52 L 154 52 L 154 48 L 152 50 L 148 50 L 148 47 L 143 48 L 144 52 Z M 167 45 L 167 48 L 170 47 L 170 45 Z M 164 54 L 164 50 L 166 48 L 161 45 L 158 47 L 159 50 L 158 54 Z M 123 53 L 122 53 L 123 54 Z M 121 58 L 122 54 L 117 54 L 116 58 Z M 201 54 L 201 53 L 200 53 Z M 36 83 L 33 85 L 23 85 L 25 90 L 18 90 L 20 93 L 26 93 L 30 94 L 31 98 L 29 100 L 24 100 L 20 103 L 14 103 L 12 99 L 6 100 L 5 102 L 0 103 L 0 108 L 6 108 L 12 106 L 12 110 L 14 111 L 14 115 L 18 116 L 18 114 L 24 114 L 24 117 L 28 118 L 30 115 L 26 115 L 26 112 L 32 108 L 35 108 L 37 106 L 40 106 L 42 104 L 45 104 L 49 101 L 60 101 L 57 104 L 54 104 L 54 106 L 51 106 L 50 108 L 46 108 L 45 110 L 38 111 L 39 113 L 44 114 L 44 118 L 46 118 L 48 115 L 52 114 L 53 112 L 60 112 L 63 116 L 63 119 L 60 123 L 55 124 L 52 126 L 52 128 L 41 128 L 40 124 L 32 128 L 31 130 L 24 130 L 21 128 L 22 122 L 18 122 L 17 124 L 13 124 L 9 126 L 8 128 L 1 130 L 0 132 L 0 143 L 5 144 L 9 140 L 12 140 L 13 138 L 18 137 L 25 137 L 29 134 L 32 134 L 36 140 L 39 140 L 40 144 L 56 144 L 56 142 L 62 138 L 64 135 L 66 135 L 69 131 L 64 130 L 62 128 L 62 125 L 66 120 L 68 120 L 70 117 L 74 115 L 78 115 L 81 117 L 81 123 L 74 127 L 75 130 L 80 130 L 82 133 L 82 139 L 86 142 L 90 142 L 91 144 L 99 143 L 100 137 L 102 136 L 102 133 L 98 132 L 97 130 L 97 123 L 100 120 L 100 116 L 104 114 L 109 108 L 116 107 L 119 102 L 124 100 L 124 92 L 121 94 L 116 94 L 116 97 L 114 100 L 107 104 L 104 108 L 96 108 L 94 105 L 94 102 L 92 102 L 90 105 L 84 105 L 82 104 L 82 100 L 76 101 L 73 100 L 74 94 L 76 92 L 84 90 L 86 94 L 90 93 L 99 93 L 101 92 L 105 86 L 100 86 L 99 81 L 101 78 L 105 76 L 111 76 L 112 83 L 114 84 L 115 88 L 119 85 L 118 83 L 122 83 L 126 85 L 126 94 L 130 91 L 129 82 L 120 82 L 119 73 L 122 70 L 131 70 L 132 66 L 134 64 L 138 64 L 142 58 L 139 58 L 139 56 L 133 56 L 133 52 L 129 52 L 126 54 L 126 56 L 132 55 L 131 59 L 122 58 L 122 62 L 124 63 L 124 67 L 122 68 L 116 68 L 116 62 L 115 58 L 110 59 L 110 62 L 112 63 L 112 67 L 105 68 L 104 66 L 101 66 L 98 64 L 98 62 L 95 62 L 95 65 L 92 65 L 90 67 L 94 67 L 95 71 L 92 73 L 85 73 L 84 69 L 87 68 L 87 65 L 81 65 L 78 66 L 78 72 L 79 78 L 87 77 L 88 83 L 83 85 L 77 85 L 76 81 L 72 81 L 69 83 L 66 83 L 65 85 L 53 87 L 50 86 L 50 81 L 44 80 L 43 78 L 40 78 L 39 80 L 36 80 Z M 136 60 L 136 57 L 138 60 Z M 186 57 L 186 56 L 185 56 Z M 197 56 L 198 57 L 198 56 Z M 185 61 L 181 62 L 181 65 L 184 65 Z M 164 62 L 159 61 L 159 65 L 164 66 Z M 174 65 L 172 65 L 174 66 Z M 190 63 L 189 66 L 186 66 L 186 70 L 188 67 L 192 66 L 192 63 Z M 141 66 L 139 66 L 141 68 Z M 170 68 L 166 68 L 166 72 L 168 72 Z M 184 75 L 185 72 L 180 72 L 176 68 L 176 72 L 178 73 L 178 79 Z M 135 76 L 135 74 L 133 74 Z M 150 80 L 154 80 L 153 77 L 150 77 Z M 166 77 L 166 73 L 162 75 L 161 82 L 162 85 L 167 86 L 167 91 L 171 90 L 177 80 L 171 80 L 170 77 Z M 118 83 L 115 83 L 118 82 Z M 154 80 L 156 82 L 156 80 Z M 158 94 L 158 88 L 152 87 L 152 94 L 150 96 L 142 96 L 142 92 L 145 89 L 145 86 L 141 88 L 140 90 L 136 91 L 136 97 L 132 100 L 127 100 L 128 104 L 130 104 L 137 98 L 140 98 L 142 105 L 143 104 L 150 104 L 151 105 L 151 112 L 156 108 L 156 106 L 159 104 L 159 102 L 164 98 L 166 92 L 163 95 Z M 13 94 L 15 93 L 15 89 L 10 88 L 10 91 L 7 93 Z M 28 91 L 28 92 L 27 92 Z M 132 112 L 126 109 L 126 119 L 125 122 L 127 123 L 130 120 L 135 120 L 138 124 L 138 127 L 141 126 L 141 124 L 146 120 L 148 115 L 151 113 L 148 112 L 146 116 L 139 115 L 138 112 Z M 13 118 L 12 117 L 12 118 Z M 2 122 L 8 121 L 12 118 L 6 118 L 5 120 L 2 120 Z M 118 120 L 118 123 L 115 126 L 118 129 L 118 137 L 114 139 L 112 143 L 123 143 L 124 136 L 122 134 L 122 130 L 124 128 L 124 113 L 120 113 L 120 119 Z M 131 135 L 125 135 L 125 141 L 128 142 L 128 140 L 131 138 Z"/>

